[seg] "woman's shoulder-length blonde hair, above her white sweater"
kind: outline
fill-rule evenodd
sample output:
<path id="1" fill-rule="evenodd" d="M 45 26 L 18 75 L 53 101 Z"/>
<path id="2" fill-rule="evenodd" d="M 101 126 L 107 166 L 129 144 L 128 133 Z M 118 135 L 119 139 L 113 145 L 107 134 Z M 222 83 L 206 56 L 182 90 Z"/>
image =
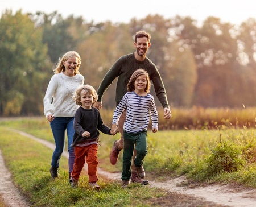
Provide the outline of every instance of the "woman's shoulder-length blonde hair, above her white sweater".
<path id="1" fill-rule="evenodd" d="M 76 67 L 74 73 L 75 74 L 80 74 L 79 68 L 80 68 L 80 65 L 81 65 L 81 57 L 80 57 L 79 53 L 77 53 L 76 51 L 68 51 L 63 56 L 61 56 L 59 62 L 57 63 L 56 68 L 53 69 L 54 73 L 56 74 L 56 73 L 64 72 L 65 71 L 65 65 L 63 63 L 71 57 L 76 57 L 76 59 L 77 59 L 77 67 Z"/>

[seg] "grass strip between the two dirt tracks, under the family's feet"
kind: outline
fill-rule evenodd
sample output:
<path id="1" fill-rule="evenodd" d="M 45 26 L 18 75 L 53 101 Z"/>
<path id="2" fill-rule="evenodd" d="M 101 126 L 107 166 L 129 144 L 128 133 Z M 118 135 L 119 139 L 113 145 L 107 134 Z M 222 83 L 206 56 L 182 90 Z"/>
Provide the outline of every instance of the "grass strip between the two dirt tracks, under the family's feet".
<path id="1" fill-rule="evenodd" d="M 151 206 L 166 192 L 131 184 L 127 189 L 118 181 L 99 176 L 98 192 L 89 188 L 88 176 L 82 175 L 79 188 L 68 183 L 67 159 L 61 158 L 60 179 L 49 176 L 52 151 L 29 138 L 0 127 L 0 146 L 16 185 L 30 198 L 31 206 Z"/>

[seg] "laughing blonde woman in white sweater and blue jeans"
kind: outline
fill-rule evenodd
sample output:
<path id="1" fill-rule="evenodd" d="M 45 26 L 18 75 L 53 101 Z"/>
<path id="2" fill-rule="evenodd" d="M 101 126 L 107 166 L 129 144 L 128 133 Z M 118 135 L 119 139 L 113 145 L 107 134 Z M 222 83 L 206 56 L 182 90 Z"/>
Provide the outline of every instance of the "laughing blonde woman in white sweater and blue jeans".
<path id="1" fill-rule="evenodd" d="M 73 135 L 73 121 L 77 105 L 73 100 L 73 92 L 77 86 L 84 84 L 84 76 L 79 73 L 81 58 L 79 53 L 69 51 L 59 60 L 57 67 L 53 69 L 54 75 L 49 81 L 44 97 L 44 115 L 50 122 L 53 138 L 55 140 L 55 150 L 52 155 L 50 173 L 52 179 L 58 177 L 61 154 L 65 148 L 65 131 L 68 136 L 68 166 L 69 182 L 71 182 L 71 172 L 75 160 L 74 149 L 71 147 Z"/>

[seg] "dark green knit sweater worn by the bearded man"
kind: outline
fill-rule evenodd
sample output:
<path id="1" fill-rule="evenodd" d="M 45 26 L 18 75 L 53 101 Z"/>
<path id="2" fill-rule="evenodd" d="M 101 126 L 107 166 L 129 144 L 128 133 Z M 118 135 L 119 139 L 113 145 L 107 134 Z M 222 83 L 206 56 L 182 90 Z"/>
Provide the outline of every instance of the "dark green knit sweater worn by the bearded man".
<path id="1" fill-rule="evenodd" d="M 166 90 L 164 89 L 162 78 L 160 77 L 160 74 L 155 64 L 152 63 L 152 61 L 147 57 L 142 62 L 136 60 L 134 57 L 134 53 L 120 57 L 109 69 L 108 73 L 106 73 L 97 90 L 98 101 L 102 101 L 101 99 L 106 89 L 108 89 L 109 85 L 112 84 L 115 78 L 118 77 L 117 88 L 115 91 L 115 102 L 118 105 L 122 97 L 127 93 L 127 84 L 130 80 L 131 75 L 139 68 L 142 68 L 148 72 L 150 80 L 154 85 L 155 93 L 158 97 L 158 100 L 163 107 L 169 108 Z"/>

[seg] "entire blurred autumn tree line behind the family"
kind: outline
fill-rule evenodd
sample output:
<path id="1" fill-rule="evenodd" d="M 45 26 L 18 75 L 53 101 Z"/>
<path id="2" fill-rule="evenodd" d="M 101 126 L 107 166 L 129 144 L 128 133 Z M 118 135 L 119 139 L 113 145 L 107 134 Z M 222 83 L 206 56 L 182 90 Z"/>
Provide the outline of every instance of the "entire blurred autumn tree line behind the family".
<path id="1" fill-rule="evenodd" d="M 69 50 L 79 52 L 85 84 L 97 89 L 115 60 L 135 51 L 139 30 L 152 36 L 147 56 L 159 69 L 171 107 L 256 105 L 254 18 L 239 26 L 213 16 L 199 26 L 189 16 L 157 14 L 129 23 L 94 23 L 57 11 L 6 10 L 0 28 L 1 116 L 42 115 L 52 69 Z M 104 107 L 115 107 L 114 91 L 115 81 L 104 94 Z"/>

